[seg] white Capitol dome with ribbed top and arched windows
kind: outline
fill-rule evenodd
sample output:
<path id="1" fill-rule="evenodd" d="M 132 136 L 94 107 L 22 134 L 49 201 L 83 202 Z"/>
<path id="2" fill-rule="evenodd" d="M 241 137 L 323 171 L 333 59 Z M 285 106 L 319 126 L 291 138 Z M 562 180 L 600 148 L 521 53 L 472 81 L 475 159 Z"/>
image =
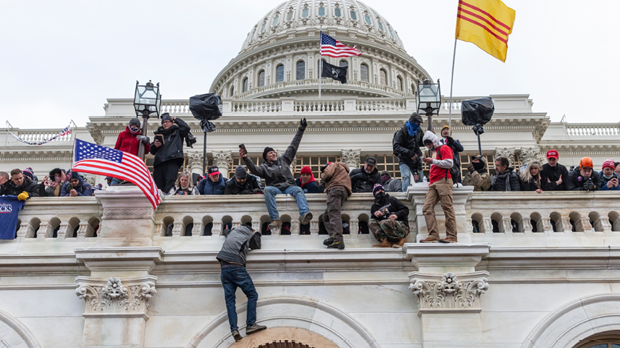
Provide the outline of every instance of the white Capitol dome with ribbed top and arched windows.
<path id="1" fill-rule="evenodd" d="M 359 57 L 321 57 L 320 32 Z M 429 74 L 409 56 L 398 32 L 377 11 L 357 0 L 288 0 L 252 27 L 239 55 L 218 74 L 211 91 L 223 98 L 316 96 L 319 62 L 347 66 L 347 83 L 323 79 L 327 98 L 413 96 Z"/>

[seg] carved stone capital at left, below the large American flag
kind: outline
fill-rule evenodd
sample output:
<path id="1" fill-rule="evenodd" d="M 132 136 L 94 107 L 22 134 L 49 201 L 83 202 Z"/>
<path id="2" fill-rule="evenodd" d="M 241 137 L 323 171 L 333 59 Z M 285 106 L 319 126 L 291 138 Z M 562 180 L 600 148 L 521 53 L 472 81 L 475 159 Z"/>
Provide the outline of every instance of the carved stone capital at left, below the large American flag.
<path id="1" fill-rule="evenodd" d="M 149 300 L 157 293 L 156 277 L 131 279 L 123 284 L 120 278 L 112 277 L 104 285 L 102 279 L 78 277 L 75 294 L 86 301 L 88 314 L 144 314 Z"/>

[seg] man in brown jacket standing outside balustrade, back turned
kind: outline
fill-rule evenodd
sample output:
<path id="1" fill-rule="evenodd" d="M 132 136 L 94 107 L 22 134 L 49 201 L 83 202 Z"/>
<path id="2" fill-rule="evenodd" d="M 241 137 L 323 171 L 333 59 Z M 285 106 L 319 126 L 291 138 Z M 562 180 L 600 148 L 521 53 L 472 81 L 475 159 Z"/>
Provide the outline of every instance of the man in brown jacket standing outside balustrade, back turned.
<path id="1" fill-rule="evenodd" d="M 344 249 L 342 239 L 342 217 L 340 208 L 351 195 L 351 178 L 349 167 L 343 162 L 330 162 L 321 168 L 321 180 L 327 192 L 327 209 L 323 214 L 323 224 L 329 238 L 323 241 L 328 249 Z"/>

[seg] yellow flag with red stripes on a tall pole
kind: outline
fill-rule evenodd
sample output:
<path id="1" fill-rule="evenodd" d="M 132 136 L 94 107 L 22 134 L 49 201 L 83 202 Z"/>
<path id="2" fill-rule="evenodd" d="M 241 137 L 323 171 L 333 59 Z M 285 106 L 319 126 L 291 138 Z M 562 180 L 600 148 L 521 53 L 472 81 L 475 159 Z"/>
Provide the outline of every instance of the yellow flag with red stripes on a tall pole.
<path id="1" fill-rule="evenodd" d="M 471 42 L 505 62 L 515 14 L 501 0 L 460 0 L 456 38 Z"/>

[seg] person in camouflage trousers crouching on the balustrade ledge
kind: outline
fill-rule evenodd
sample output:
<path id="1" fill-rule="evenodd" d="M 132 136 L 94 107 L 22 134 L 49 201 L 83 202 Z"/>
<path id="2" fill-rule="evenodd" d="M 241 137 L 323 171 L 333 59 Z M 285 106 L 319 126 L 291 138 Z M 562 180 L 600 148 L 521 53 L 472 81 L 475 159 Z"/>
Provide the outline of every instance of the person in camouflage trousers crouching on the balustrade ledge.
<path id="1" fill-rule="evenodd" d="M 381 184 L 372 189 L 375 202 L 370 208 L 370 232 L 381 243 L 376 248 L 401 248 L 409 235 L 409 208 L 399 199 L 385 193 Z"/>

